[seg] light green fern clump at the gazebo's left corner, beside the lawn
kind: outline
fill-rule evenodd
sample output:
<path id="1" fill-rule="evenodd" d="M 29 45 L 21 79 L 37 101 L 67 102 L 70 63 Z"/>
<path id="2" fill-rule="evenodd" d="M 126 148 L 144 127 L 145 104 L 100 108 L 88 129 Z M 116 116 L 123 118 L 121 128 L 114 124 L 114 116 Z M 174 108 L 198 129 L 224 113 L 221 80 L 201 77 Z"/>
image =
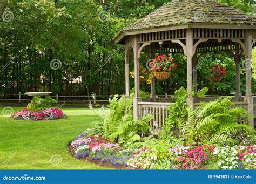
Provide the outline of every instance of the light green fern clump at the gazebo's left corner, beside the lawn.
<path id="1" fill-rule="evenodd" d="M 147 114 L 141 120 L 133 119 L 133 94 L 129 99 L 122 96 L 114 96 L 109 107 L 109 113 L 103 121 L 99 121 L 93 126 L 94 134 L 102 134 L 106 139 L 116 141 L 119 144 L 125 142 L 140 141 L 139 132 L 148 132 L 150 130 L 149 121 L 152 120 L 152 115 Z"/>

